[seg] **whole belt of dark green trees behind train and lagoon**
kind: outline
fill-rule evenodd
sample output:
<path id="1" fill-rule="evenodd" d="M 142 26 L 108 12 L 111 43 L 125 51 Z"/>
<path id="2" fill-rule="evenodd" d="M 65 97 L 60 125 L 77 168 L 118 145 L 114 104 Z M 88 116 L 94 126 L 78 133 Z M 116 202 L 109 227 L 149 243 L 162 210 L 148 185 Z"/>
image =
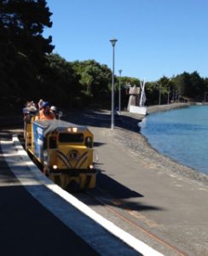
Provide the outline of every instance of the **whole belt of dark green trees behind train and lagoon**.
<path id="1" fill-rule="evenodd" d="M 53 54 L 52 37 L 43 38 L 44 28 L 52 26 L 51 15 L 45 0 L 0 0 L 1 111 L 40 98 L 61 108 L 110 108 L 111 69 L 95 60 L 69 62 Z M 140 81 L 115 77 L 116 105 L 119 79 L 126 108 L 129 84 L 139 86 Z M 207 102 L 206 91 L 208 79 L 184 72 L 147 82 L 147 105 Z"/>

